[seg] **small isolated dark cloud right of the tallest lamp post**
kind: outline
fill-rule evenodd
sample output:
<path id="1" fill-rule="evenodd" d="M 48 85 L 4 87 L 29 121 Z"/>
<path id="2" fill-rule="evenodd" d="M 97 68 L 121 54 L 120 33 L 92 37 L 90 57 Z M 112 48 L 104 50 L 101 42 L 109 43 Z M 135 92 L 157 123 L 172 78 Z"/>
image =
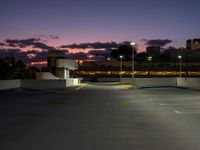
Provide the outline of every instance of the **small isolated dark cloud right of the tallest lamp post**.
<path id="1" fill-rule="evenodd" d="M 161 46 L 164 47 L 167 44 L 171 43 L 172 41 L 169 39 L 156 39 L 156 40 L 147 40 L 147 39 L 142 39 L 141 41 L 144 41 L 146 45 L 150 46 Z"/>

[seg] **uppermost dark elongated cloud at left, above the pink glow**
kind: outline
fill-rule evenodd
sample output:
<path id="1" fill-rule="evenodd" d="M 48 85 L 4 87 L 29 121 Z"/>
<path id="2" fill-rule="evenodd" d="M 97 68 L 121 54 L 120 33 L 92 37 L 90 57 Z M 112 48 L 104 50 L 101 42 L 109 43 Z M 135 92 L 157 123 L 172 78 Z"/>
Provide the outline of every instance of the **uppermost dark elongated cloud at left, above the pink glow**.
<path id="1" fill-rule="evenodd" d="M 41 42 L 40 38 L 30 38 L 30 39 L 23 39 L 23 40 L 12 40 L 7 39 L 5 40 L 7 46 L 10 47 L 19 47 L 19 48 L 25 48 L 28 46 L 33 46 L 34 48 L 40 48 L 45 50 L 56 50 L 56 48 L 46 45 L 45 43 Z"/>

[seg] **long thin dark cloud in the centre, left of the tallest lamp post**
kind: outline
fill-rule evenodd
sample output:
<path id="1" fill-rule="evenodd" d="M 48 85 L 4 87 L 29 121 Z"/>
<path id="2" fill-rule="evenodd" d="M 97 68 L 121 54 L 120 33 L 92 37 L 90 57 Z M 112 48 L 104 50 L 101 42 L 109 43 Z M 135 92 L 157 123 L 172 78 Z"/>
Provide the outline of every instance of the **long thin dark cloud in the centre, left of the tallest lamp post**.
<path id="1" fill-rule="evenodd" d="M 118 48 L 119 44 L 116 42 L 95 42 L 95 43 L 81 43 L 81 44 L 71 44 L 71 45 L 62 45 L 61 48 L 77 48 L 77 49 L 86 49 L 86 48 L 94 48 L 94 49 L 107 49 L 107 48 Z"/>

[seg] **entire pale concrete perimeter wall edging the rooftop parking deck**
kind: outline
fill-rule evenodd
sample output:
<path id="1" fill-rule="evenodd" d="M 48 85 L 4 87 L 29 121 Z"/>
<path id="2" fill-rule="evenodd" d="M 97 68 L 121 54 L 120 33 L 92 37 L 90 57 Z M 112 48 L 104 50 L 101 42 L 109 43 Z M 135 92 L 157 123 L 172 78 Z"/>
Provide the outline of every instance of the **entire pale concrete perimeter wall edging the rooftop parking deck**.
<path id="1" fill-rule="evenodd" d="M 26 89 L 65 89 L 80 84 L 80 78 L 68 80 L 0 80 L 0 90 Z M 116 82 L 119 78 L 99 78 L 101 82 Z M 131 78 L 123 78 L 123 83 L 131 83 Z M 138 87 L 178 86 L 200 90 L 200 78 L 135 78 Z"/>

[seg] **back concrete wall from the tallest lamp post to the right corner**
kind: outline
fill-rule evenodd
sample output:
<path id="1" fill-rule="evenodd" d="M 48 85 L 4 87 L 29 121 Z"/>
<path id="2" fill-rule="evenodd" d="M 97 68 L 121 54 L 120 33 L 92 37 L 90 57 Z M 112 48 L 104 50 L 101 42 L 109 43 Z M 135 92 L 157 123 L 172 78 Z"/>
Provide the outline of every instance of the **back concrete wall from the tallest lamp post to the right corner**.
<path id="1" fill-rule="evenodd" d="M 123 83 L 132 83 L 132 78 L 123 78 Z M 176 86 L 176 78 L 135 78 L 138 87 Z"/>

